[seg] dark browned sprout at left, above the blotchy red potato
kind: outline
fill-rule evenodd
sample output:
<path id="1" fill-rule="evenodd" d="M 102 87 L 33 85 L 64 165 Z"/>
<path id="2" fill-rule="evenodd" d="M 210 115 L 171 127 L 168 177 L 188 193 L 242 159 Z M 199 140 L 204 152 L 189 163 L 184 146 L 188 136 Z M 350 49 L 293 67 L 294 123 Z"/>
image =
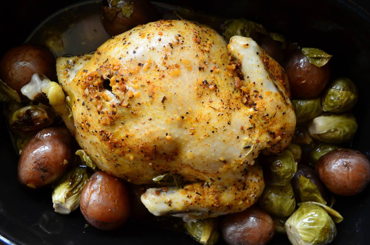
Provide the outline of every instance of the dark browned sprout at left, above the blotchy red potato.
<path id="1" fill-rule="evenodd" d="M 29 134 L 51 125 L 54 118 L 55 115 L 49 108 L 28 105 L 13 113 L 9 121 L 9 127 L 21 134 Z"/>

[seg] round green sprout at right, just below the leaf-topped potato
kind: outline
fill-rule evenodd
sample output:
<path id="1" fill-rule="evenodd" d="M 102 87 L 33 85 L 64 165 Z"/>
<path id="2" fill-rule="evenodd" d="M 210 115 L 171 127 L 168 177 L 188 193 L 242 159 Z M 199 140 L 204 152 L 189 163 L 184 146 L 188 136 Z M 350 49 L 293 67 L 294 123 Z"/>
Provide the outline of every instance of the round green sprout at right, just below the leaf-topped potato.
<path id="1" fill-rule="evenodd" d="M 323 111 L 343 113 L 350 110 L 359 98 L 359 91 L 348 78 L 334 80 L 322 96 Z"/>

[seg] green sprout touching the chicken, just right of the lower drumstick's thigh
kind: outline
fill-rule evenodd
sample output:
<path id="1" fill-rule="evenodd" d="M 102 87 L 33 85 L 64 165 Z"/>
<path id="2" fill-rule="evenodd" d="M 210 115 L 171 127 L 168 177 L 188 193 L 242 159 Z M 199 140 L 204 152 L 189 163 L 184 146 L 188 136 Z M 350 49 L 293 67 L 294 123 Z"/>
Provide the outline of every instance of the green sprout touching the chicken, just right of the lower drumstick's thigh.
<path id="1" fill-rule="evenodd" d="M 270 183 L 273 185 L 289 184 L 297 171 L 293 153 L 285 150 L 280 155 L 270 157 L 269 162 L 271 165 L 267 171 L 270 175 Z"/>

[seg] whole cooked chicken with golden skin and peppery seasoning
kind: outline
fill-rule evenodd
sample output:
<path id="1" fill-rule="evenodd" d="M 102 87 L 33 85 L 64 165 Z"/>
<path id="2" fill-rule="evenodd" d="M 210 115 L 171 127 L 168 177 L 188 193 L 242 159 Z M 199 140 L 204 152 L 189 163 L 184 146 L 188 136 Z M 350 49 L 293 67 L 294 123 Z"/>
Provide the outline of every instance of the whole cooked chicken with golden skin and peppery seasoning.
<path id="1" fill-rule="evenodd" d="M 264 188 L 254 159 L 281 151 L 295 129 L 276 61 L 250 38 L 227 46 L 191 21 L 135 27 L 93 56 L 58 58 L 57 73 L 71 130 L 99 168 L 134 184 L 181 179 L 142 195 L 155 215 L 191 220 L 248 208 Z"/>

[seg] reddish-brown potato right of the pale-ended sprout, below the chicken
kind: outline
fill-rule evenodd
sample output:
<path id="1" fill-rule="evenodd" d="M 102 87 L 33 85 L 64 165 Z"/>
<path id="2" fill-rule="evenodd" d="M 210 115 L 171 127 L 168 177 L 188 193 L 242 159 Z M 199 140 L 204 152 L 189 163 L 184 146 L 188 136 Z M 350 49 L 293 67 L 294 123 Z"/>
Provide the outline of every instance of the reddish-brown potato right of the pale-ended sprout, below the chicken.
<path id="1" fill-rule="evenodd" d="M 80 209 L 86 221 L 95 228 L 112 230 L 120 227 L 130 214 L 124 183 L 106 172 L 95 172 L 82 190 Z"/>

